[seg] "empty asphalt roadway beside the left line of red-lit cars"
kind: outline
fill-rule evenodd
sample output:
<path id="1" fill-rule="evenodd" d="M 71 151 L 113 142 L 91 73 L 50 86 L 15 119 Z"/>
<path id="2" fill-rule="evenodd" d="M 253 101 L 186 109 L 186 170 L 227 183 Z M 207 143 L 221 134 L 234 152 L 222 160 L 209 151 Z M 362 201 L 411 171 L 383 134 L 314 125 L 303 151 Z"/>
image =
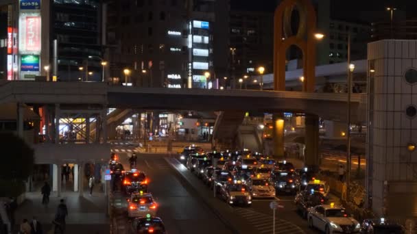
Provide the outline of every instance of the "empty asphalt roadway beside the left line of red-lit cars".
<path id="1" fill-rule="evenodd" d="M 163 219 L 169 234 L 231 233 L 211 209 L 193 194 L 189 185 L 178 178 L 179 175 L 165 161 L 166 155 L 137 155 L 138 169 L 145 171 L 150 178 L 149 191 L 158 203 L 157 215 Z M 125 170 L 129 170 L 127 154 L 119 153 L 119 158 Z M 122 207 L 126 207 L 126 200 L 122 199 L 121 203 L 124 203 Z M 123 220 L 125 222 L 119 225 L 126 225 L 123 229 L 129 229 L 127 216 Z"/>

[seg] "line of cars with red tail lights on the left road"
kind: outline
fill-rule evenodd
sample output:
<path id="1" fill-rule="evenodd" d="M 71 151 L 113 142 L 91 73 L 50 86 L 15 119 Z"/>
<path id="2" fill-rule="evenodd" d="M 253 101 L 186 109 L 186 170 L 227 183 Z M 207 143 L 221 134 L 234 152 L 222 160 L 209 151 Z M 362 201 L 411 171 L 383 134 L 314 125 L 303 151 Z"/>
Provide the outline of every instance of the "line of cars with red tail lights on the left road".
<path id="1" fill-rule="evenodd" d="M 127 213 L 131 220 L 128 233 L 165 234 L 163 221 L 156 217 L 158 204 L 148 190 L 149 178 L 145 172 L 136 168 L 124 170 L 123 165 L 117 160 L 117 155 L 112 154 L 109 168 L 113 191 L 117 190 L 119 184 L 121 192 L 127 196 Z"/>

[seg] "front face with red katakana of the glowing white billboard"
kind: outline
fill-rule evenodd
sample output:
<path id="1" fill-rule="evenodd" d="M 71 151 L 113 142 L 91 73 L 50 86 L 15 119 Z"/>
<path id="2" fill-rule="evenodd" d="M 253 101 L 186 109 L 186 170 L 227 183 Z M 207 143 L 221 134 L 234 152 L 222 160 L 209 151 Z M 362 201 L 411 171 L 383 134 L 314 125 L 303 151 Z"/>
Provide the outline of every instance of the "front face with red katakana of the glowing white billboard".
<path id="1" fill-rule="evenodd" d="M 26 17 L 26 51 L 40 51 L 40 16 Z"/>

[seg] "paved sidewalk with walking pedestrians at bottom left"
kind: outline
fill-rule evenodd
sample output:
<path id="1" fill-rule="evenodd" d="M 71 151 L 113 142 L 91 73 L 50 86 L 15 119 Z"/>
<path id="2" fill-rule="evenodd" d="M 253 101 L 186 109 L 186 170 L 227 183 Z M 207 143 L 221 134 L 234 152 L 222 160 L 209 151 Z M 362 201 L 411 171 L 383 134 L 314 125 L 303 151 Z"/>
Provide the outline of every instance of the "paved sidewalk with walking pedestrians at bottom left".
<path id="1" fill-rule="evenodd" d="M 99 189 L 97 188 L 97 190 Z M 80 197 L 78 192 L 62 192 L 60 198 L 57 197 L 56 192 L 53 192 L 48 205 L 42 205 L 40 192 L 27 192 L 26 200 L 16 210 L 16 224 L 20 224 L 23 218 L 30 221 L 33 216 L 36 216 L 46 233 L 51 229 L 51 222 L 55 217 L 60 199 L 64 199 L 68 207 L 66 233 L 101 234 L 110 232 L 103 192 L 93 192 L 93 196 L 84 192 L 84 197 Z"/>

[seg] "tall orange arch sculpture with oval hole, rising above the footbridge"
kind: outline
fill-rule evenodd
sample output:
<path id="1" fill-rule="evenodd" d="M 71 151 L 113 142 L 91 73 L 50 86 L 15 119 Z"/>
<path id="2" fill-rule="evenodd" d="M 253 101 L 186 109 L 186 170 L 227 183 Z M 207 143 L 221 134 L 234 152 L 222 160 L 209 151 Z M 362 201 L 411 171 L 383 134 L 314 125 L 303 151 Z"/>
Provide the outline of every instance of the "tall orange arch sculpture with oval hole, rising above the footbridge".
<path id="1" fill-rule="evenodd" d="M 291 12 L 298 8 L 300 25 L 296 35 L 291 33 Z M 284 0 L 274 14 L 274 90 L 285 91 L 286 52 L 291 45 L 302 51 L 304 81 L 302 90 L 315 90 L 315 31 L 316 17 L 309 0 Z"/>

